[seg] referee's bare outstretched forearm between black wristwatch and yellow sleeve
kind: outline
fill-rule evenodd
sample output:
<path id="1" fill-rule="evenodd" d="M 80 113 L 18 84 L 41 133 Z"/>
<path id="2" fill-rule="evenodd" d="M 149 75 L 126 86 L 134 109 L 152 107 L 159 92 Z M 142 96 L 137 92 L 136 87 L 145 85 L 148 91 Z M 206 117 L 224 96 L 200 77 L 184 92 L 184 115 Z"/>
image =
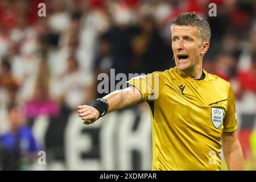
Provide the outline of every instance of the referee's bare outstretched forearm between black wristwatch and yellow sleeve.
<path id="1" fill-rule="evenodd" d="M 123 109 L 133 104 L 137 104 L 141 100 L 141 93 L 135 88 L 126 88 L 116 90 L 104 97 L 109 103 L 108 113 Z"/>

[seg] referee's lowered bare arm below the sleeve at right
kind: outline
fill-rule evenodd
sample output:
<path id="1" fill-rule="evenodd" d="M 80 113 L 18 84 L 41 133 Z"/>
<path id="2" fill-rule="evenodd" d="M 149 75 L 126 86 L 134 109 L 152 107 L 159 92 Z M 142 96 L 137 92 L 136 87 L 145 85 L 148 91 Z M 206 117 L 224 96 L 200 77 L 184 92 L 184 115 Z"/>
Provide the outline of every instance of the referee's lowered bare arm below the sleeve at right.
<path id="1" fill-rule="evenodd" d="M 222 149 L 229 171 L 244 170 L 242 148 L 236 131 L 222 134 Z"/>

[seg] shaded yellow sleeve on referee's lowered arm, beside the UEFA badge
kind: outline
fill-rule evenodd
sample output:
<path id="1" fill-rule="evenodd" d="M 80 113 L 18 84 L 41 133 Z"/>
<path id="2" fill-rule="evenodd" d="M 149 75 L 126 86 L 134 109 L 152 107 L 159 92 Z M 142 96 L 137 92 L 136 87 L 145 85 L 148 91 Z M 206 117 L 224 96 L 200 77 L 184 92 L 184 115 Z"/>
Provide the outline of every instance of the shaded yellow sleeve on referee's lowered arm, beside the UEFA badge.
<path id="1" fill-rule="evenodd" d="M 232 86 L 229 84 L 228 108 L 224 119 L 224 132 L 232 133 L 237 130 L 236 100 Z"/>

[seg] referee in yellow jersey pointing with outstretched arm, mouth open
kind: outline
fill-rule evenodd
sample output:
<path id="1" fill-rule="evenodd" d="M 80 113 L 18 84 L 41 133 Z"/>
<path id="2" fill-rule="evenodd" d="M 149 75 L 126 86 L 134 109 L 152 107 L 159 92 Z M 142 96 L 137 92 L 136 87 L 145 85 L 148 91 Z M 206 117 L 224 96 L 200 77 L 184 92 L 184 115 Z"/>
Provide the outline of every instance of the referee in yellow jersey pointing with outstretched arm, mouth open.
<path id="1" fill-rule="evenodd" d="M 152 118 L 153 170 L 220 170 L 221 147 L 229 170 L 243 170 L 235 98 L 229 82 L 202 68 L 210 27 L 195 13 L 171 26 L 175 68 L 135 77 L 91 106 L 79 106 L 85 124 L 106 112 L 147 102 Z"/>

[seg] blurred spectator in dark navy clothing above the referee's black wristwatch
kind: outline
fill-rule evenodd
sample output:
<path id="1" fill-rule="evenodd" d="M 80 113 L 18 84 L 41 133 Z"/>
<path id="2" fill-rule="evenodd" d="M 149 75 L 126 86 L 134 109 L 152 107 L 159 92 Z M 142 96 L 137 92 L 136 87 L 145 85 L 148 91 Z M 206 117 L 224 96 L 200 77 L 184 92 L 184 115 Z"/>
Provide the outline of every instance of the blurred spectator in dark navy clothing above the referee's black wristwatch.
<path id="1" fill-rule="evenodd" d="M 96 93 L 96 97 L 104 96 L 104 94 L 97 92 L 97 84 L 100 82 L 96 79 L 98 74 L 106 73 L 110 76 L 110 69 L 114 69 L 115 75 L 123 73 L 128 76 L 128 73 L 132 73 L 130 68 L 131 42 L 138 32 L 139 28 L 137 26 L 113 25 L 108 31 L 99 36 L 97 52 L 93 60 L 94 80 L 96 81 L 94 82 L 94 93 Z M 108 81 L 110 85 L 110 79 Z M 118 82 L 117 80 L 112 81 Z"/>

